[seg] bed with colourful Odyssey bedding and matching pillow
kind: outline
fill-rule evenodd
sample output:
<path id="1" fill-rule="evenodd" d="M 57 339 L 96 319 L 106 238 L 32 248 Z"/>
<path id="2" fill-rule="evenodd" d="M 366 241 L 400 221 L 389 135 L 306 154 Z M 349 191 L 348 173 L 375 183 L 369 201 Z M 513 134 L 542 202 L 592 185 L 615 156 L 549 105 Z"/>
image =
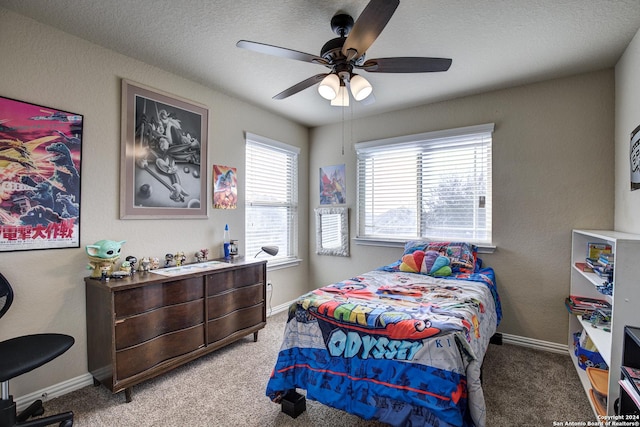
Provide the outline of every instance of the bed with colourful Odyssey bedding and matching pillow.
<path id="1" fill-rule="evenodd" d="M 447 258 L 449 274 L 428 257 Z M 500 319 L 494 271 L 473 245 L 408 242 L 400 260 L 291 305 L 266 394 L 303 389 L 394 426 L 483 427 L 481 365 Z"/>

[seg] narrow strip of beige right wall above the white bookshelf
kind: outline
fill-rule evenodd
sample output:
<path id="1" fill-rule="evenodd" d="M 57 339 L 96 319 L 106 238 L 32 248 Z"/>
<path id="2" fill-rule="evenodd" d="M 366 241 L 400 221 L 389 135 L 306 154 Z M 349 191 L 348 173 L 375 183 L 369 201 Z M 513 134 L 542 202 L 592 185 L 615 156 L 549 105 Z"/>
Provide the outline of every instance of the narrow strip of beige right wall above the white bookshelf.
<path id="1" fill-rule="evenodd" d="M 631 132 L 640 125 L 640 31 L 616 65 L 616 229 L 640 233 L 640 191 L 631 191 L 629 144 Z"/>

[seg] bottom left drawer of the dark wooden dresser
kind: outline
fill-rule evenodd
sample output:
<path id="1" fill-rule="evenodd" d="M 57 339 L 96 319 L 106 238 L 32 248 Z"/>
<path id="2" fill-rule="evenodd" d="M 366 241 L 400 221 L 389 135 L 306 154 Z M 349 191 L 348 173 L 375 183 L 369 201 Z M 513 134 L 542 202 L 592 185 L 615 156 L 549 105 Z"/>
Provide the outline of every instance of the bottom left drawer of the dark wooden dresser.
<path id="1" fill-rule="evenodd" d="M 126 379 L 204 346 L 204 325 L 161 335 L 116 352 L 116 378 Z"/>

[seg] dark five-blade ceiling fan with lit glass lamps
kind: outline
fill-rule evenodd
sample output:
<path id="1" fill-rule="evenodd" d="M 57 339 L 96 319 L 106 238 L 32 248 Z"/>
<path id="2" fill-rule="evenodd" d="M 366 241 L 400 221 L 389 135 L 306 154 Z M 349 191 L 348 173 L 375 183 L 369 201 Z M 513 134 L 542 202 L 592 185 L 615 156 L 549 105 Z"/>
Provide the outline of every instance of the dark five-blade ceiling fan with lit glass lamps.
<path id="1" fill-rule="evenodd" d="M 448 58 L 393 57 L 365 59 L 366 51 L 378 38 L 393 16 L 399 0 L 371 0 L 357 21 L 339 13 L 331 18 L 331 29 L 338 37 L 322 47 L 320 56 L 264 43 L 240 40 L 236 46 L 268 55 L 324 65 L 328 73 L 316 74 L 275 95 L 273 99 L 285 99 L 320 83 L 318 92 L 331 100 L 332 105 L 349 105 L 349 90 L 356 101 L 373 102 L 371 84 L 354 69 L 370 73 L 429 73 L 447 71 Z"/>

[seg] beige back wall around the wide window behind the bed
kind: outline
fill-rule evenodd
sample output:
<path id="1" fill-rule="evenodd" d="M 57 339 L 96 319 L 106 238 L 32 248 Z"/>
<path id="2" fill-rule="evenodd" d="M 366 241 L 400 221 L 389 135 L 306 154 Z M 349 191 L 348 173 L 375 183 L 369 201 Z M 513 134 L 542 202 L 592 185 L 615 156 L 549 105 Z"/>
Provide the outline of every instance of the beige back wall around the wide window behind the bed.
<path id="1" fill-rule="evenodd" d="M 311 132 L 309 210 L 318 207 L 318 169 L 346 164 L 350 234 L 356 235 L 353 143 L 495 123 L 494 254 L 504 309 L 500 331 L 566 344 L 572 228 L 613 226 L 612 69 L 412 108 Z M 360 107 L 362 108 L 362 107 Z M 342 137 L 345 154 L 342 155 Z M 312 220 L 312 225 L 314 221 Z M 310 243 L 315 247 L 315 235 Z M 351 257 L 311 256 L 314 285 L 397 260 L 399 248 L 359 246 Z"/>

